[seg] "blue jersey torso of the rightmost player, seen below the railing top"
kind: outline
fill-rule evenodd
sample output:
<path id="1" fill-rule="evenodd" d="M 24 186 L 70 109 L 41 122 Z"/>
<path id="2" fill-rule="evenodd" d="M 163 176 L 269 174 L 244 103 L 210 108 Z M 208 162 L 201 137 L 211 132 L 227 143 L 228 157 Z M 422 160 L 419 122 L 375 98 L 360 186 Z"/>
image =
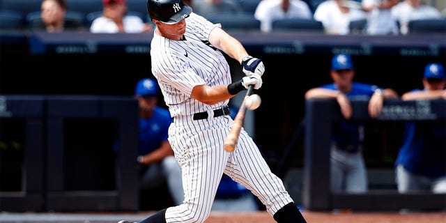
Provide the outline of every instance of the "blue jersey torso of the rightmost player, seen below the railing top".
<path id="1" fill-rule="evenodd" d="M 398 164 L 413 174 L 446 176 L 446 121 L 407 121 Z"/>

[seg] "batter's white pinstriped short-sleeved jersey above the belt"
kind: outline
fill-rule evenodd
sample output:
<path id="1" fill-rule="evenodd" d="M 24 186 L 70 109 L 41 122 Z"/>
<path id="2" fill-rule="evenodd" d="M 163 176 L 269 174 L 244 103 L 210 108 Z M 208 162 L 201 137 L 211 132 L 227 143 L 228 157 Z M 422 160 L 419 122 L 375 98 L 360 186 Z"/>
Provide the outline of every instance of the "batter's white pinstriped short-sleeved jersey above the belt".
<path id="1" fill-rule="evenodd" d="M 171 116 L 213 110 L 229 102 L 206 105 L 190 98 L 194 86 L 231 84 L 231 75 L 222 52 L 205 44 L 210 31 L 220 24 L 212 24 L 194 13 L 185 20 L 186 40 L 169 40 L 155 33 L 151 43 L 152 72 Z"/>

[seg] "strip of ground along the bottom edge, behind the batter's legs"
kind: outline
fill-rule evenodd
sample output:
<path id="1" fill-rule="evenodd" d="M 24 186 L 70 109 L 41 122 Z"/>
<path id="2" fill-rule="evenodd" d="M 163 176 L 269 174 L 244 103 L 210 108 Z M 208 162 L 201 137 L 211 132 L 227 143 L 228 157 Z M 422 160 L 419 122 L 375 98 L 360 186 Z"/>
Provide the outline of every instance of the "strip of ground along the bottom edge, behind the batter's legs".
<path id="1" fill-rule="evenodd" d="M 139 222 L 153 215 L 137 213 L 0 213 L 1 223 L 117 223 L 119 220 Z M 353 213 L 303 210 L 307 223 L 446 223 L 446 212 L 435 213 Z M 275 223 L 265 211 L 213 211 L 206 223 Z"/>

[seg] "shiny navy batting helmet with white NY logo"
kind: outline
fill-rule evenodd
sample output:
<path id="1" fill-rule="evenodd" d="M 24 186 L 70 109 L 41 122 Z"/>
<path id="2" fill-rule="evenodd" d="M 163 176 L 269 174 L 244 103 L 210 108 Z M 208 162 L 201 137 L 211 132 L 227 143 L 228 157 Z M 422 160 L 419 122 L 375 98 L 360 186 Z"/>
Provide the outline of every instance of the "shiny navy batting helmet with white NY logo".
<path id="1" fill-rule="evenodd" d="M 152 20 L 175 24 L 192 13 L 183 0 L 147 0 L 147 12 Z"/>

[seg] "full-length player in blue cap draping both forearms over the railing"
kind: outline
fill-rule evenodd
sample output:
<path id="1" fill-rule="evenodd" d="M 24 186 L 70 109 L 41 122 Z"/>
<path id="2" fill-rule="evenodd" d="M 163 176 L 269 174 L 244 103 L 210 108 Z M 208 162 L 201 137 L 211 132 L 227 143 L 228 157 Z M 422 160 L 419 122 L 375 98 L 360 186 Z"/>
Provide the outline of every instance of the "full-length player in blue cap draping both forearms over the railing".
<path id="1" fill-rule="evenodd" d="M 334 99 L 341 108 L 344 119 L 332 125 L 330 178 L 332 192 L 367 192 L 367 171 L 362 157 L 364 126 L 352 122 L 353 98 L 368 98 L 369 115 L 376 118 L 383 109 L 385 99 L 398 98 L 393 89 L 383 89 L 372 84 L 353 82 L 355 68 L 348 54 L 332 58 L 331 84 L 325 84 L 305 93 L 305 99 Z"/>

